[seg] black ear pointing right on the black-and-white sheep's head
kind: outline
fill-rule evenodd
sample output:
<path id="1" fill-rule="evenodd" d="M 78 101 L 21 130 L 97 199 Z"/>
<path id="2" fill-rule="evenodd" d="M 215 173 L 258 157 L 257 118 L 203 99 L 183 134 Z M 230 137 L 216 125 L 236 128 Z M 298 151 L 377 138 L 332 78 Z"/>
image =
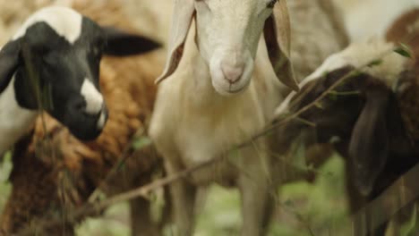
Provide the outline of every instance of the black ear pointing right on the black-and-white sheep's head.
<path id="1" fill-rule="evenodd" d="M 112 27 L 102 27 L 106 35 L 105 55 L 125 56 L 148 53 L 160 46 L 150 38 L 130 34 Z"/>

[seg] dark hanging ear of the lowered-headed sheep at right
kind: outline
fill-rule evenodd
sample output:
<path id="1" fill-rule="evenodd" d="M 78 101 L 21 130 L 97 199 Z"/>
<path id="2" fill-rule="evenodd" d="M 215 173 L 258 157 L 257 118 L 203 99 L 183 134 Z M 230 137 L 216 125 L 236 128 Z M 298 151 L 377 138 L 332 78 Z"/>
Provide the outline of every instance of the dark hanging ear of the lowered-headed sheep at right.
<path id="1" fill-rule="evenodd" d="M 386 114 L 390 92 L 386 89 L 366 91 L 366 102 L 349 143 L 348 154 L 353 168 L 355 187 L 363 196 L 371 193 L 374 181 L 389 156 Z"/>

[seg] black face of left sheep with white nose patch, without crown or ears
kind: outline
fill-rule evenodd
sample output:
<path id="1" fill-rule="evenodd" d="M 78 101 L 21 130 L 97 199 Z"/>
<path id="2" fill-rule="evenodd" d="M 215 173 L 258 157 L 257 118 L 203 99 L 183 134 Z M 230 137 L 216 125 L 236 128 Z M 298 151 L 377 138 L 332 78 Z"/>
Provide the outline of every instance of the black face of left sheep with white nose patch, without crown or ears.
<path id="1" fill-rule="evenodd" d="M 45 22 L 32 25 L 21 38 L 21 59 L 25 63 L 17 69 L 15 90 L 20 105 L 38 108 L 37 97 L 28 97 L 26 93 L 33 90 L 31 80 L 38 80 L 35 84 L 40 85 L 42 95 L 38 98 L 43 108 L 77 138 L 95 139 L 107 120 L 106 105 L 98 87 L 106 36 L 96 23 L 86 18 L 82 20 L 81 32 L 80 38 L 71 44 Z M 90 94 L 82 93 L 86 81 L 90 83 L 87 91 Z M 87 109 L 88 103 L 100 101 L 98 109 Z"/>

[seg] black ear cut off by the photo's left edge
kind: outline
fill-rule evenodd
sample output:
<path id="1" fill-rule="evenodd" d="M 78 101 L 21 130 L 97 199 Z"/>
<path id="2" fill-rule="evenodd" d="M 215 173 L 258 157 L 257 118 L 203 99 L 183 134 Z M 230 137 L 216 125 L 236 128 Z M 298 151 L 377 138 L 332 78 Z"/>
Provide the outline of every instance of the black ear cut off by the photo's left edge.
<path id="1" fill-rule="evenodd" d="M 19 64 L 20 40 L 8 42 L 0 50 L 0 93 L 9 85 Z"/>

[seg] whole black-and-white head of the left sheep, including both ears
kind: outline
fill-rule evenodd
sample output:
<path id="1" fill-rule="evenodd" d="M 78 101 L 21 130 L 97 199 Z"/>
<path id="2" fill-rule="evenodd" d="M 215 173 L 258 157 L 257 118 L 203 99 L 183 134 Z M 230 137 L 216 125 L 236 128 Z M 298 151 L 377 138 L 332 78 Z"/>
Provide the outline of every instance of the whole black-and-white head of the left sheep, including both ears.
<path id="1" fill-rule="evenodd" d="M 102 54 L 133 55 L 157 46 L 146 38 L 101 28 L 73 10 L 48 7 L 33 14 L 2 49 L 0 89 L 15 78 L 18 105 L 38 109 L 40 100 L 74 136 L 95 139 L 107 121 L 98 86 Z M 37 97 L 37 90 L 42 96 Z"/>

